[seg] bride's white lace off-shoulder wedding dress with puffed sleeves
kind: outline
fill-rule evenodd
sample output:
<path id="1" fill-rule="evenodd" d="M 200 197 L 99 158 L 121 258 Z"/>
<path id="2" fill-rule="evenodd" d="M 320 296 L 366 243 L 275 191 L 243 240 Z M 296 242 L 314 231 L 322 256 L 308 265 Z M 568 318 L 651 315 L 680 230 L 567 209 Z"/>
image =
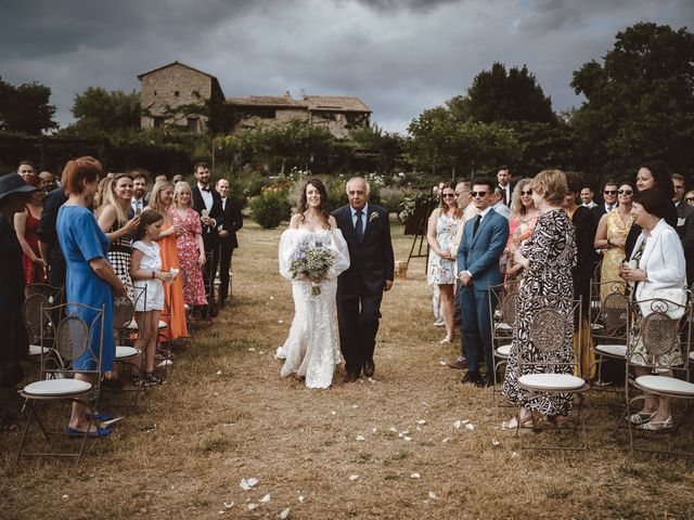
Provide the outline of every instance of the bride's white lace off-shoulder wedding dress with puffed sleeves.
<path id="1" fill-rule="evenodd" d="M 317 242 L 337 252 L 327 280 L 321 282 L 320 295 L 311 294 L 308 278 L 292 280 L 290 260 L 299 244 Z M 335 291 L 337 276 L 349 266 L 349 250 L 339 230 L 286 230 L 280 239 L 280 274 L 292 280 L 294 321 L 278 358 L 284 358 L 282 377 L 296 374 L 306 377 L 308 388 L 327 388 L 333 382 L 335 366 L 342 361 L 337 334 Z"/>

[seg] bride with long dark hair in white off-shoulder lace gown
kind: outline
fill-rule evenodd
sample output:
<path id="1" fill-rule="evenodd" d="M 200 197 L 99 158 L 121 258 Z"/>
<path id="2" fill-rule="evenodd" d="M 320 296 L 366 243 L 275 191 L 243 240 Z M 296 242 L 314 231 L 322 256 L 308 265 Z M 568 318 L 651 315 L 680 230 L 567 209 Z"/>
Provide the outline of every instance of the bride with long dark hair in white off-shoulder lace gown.
<path id="1" fill-rule="evenodd" d="M 321 243 L 336 252 L 335 262 L 323 280 L 305 276 L 292 278 L 290 261 L 296 247 Z M 280 274 L 292 280 L 294 321 L 278 358 L 284 358 L 282 377 L 306 378 L 308 388 L 327 388 L 333 382 L 335 366 L 340 362 L 335 318 L 337 276 L 349 266 L 349 251 L 335 218 L 330 214 L 327 192 L 320 179 L 304 186 L 298 211 L 292 216 L 290 229 L 280 239 Z M 313 295 L 312 286 L 320 286 Z"/>

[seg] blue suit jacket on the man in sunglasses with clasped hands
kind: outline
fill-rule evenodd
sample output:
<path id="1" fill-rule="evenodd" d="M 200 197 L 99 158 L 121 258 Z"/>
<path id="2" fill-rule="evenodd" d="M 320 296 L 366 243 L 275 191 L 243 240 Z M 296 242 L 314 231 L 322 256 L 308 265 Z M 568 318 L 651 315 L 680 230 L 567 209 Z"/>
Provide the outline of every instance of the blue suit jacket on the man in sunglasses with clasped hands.
<path id="1" fill-rule="evenodd" d="M 476 220 L 465 223 L 458 246 L 458 272 L 468 271 L 475 289 L 487 290 L 489 285 L 501 284 L 499 258 L 509 242 L 509 221 L 490 209 L 473 235 Z"/>

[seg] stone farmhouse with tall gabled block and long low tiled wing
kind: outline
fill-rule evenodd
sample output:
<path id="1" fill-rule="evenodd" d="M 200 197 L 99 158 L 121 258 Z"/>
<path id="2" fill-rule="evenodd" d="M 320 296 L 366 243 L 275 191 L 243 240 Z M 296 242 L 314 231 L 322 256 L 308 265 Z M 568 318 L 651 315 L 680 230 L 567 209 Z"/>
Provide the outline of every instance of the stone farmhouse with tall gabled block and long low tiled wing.
<path id="1" fill-rule="evenodd" d="M 368 125 L 371 108 L 351 96 L 249 95 L 226 99 L 215 76 L 174 62 L 138 76 L 142 83 L 142 128 L 179 125 L 191 132 L 206 130 L 210 117 L 224 119 L 232 133 L 280 126 L 293 118 L 327 128 L 338 139 Z"/>

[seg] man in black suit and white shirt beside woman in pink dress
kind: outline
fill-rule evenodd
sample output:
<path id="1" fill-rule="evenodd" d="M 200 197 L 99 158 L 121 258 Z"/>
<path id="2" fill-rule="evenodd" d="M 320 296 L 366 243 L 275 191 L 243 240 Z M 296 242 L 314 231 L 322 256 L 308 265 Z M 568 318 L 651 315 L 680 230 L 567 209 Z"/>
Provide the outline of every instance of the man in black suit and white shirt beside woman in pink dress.
<path id="1" fill-rule="evenodd" d="M 206 162 L 197 162 L 193 167 L 197 183 L 191 187 L 193 193 L 193 209 L 200 213 L 200 220 L 203 225 L 203 244 L 205 246 L 205 255 L 208 260 L 203 269 L 203 278 L 205 281 L 205 291 L 207 292 L 207 301 L 213 303 L 213 286 L 215 283 L 215 274 L 219 265 L 219 232 L 217 227 L 224 223 L 224 212 L 221 207 L 221 197 L 219 193 L 209 185 L 209 168 Z M 215 313 L 215 306 L 208 307 L 210 312 Z"/>

